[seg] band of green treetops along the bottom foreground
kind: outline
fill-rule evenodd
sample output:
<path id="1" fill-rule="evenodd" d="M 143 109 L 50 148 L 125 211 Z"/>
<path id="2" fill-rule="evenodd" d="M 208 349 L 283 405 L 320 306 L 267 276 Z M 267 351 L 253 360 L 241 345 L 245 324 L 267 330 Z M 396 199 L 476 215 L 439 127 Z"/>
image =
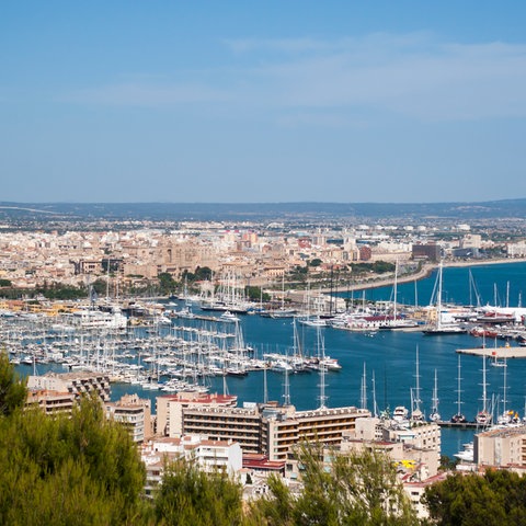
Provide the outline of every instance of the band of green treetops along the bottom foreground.
<path id="1" fill-rule="evenodd" d="M 320 445 L 297 450 L 302 488 L 271 476 L 267 495 L 243 503 L 242 487 L 191 461 L 164 466 L 153 499 L 124 426 L 104 418 L 96 396 L 71 415 L 23 410 L 25 382 L 0 353 L 0 524 L 203 526 L 412 526 L 420 524 L 389 457 L 340 455 Z M 330 457 L 330 462 L 325 462 Z M 510 471 L 456 473 L 428 487 L 431 522 L 526 525 L 526 478 Z"/>

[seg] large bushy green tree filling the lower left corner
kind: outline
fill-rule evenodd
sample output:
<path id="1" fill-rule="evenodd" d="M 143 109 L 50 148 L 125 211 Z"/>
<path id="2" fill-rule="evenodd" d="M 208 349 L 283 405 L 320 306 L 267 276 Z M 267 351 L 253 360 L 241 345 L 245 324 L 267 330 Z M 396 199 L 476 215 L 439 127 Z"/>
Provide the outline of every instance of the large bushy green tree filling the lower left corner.
<path id="1" fill-rule="evenodd" d="M 144 524 L 145 468 L 96 399 L 71 418 L 38 408 L 0 419 L 0 524 Z"/>

